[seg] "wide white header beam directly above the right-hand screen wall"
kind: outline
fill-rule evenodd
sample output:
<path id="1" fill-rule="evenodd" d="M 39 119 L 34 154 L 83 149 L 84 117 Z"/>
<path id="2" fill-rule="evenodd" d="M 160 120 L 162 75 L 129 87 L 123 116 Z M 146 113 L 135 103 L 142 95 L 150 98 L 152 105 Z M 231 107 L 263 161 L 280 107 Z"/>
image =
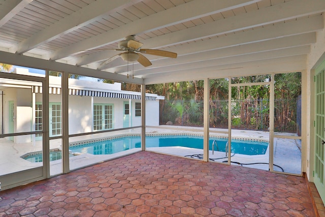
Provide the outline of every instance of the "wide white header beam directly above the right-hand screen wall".
<path id="1" fill-rule="evenodd" d="M 204 78 L 224 78 L 251 76 L 271 73 L 302 72 L 306 69 L 307 55 L 258 60 L 251 63 L 190 69 L 178 72 L 163 73 L 144 79 L 144 83 L 159 84 L 176 81 L 202 80 Z"/>

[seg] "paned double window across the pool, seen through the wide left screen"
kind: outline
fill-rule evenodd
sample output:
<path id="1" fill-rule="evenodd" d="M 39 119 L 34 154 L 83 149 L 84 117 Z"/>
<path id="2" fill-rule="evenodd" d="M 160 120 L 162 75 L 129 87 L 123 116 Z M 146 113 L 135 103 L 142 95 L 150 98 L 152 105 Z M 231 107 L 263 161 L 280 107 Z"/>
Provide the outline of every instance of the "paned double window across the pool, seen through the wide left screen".
<path id="1" fill-rule="evenodd" d="M 93 130 L 113 129 L 113 104 L 93 105 Z"/>

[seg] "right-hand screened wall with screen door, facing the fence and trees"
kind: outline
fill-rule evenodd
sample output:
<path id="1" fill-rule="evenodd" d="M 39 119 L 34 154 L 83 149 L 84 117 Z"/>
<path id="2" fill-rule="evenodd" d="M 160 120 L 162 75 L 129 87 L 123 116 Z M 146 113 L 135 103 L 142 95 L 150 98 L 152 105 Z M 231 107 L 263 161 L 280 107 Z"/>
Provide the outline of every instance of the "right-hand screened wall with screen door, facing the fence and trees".
<path id="1" fill-rule="evenodd" d="M 301 99 L 301 73 L 229 77 L 208 82 L 209 151 L 206 154 L 210 161 L 302 174 L 301 106 L 297 103 Z M 150 135 L 147 150 L 204 158 L 205 104 L 201 100 L 203 96 L 198 94 L 204 91 L 203 83 L 195 82 L 195 88 L 190 87 L 192 82 L 158 85 L 172 88 L 165 98 L 178 99 L 160 102 L 160 129 L 147 129 L 146 135 Z M 146 91 L 156 88 L 149 85 Z M 187 89 L 183 94 L 182 88 Z M 154 131 L 165 137 L 157 138 L 152 147 Z"/>

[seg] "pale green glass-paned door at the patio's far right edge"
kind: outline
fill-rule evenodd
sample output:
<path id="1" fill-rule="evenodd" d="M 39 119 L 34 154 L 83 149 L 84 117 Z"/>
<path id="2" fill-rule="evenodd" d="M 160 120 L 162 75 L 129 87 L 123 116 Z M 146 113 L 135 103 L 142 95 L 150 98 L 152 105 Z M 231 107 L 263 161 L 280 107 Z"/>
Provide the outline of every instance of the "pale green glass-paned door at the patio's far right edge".
<path id="1" fill-rule="evenodd" d="M 315 71 L 315 135 L 314 135 L 314 183 L 318 193 L 325 201 L 325 170 L 324 170 L 324 143 L 325 143 L 325 60 Z"/>

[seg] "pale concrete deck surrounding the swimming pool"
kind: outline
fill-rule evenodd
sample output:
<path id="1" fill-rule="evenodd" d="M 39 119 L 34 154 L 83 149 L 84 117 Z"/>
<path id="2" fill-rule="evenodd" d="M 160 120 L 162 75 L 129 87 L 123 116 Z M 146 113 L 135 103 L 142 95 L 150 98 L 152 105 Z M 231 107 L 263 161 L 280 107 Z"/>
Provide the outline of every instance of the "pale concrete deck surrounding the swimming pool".
<path id="1" fill-rule="evenodd" d="M 228 133 L 224 130 L 211 129 L 210 136 L 222 135 L 228 136 Z M 110 133 L 99 133 L 86 136 L 71 137 L 69 142 L 91 140 L 98 138 L 106 138 L 109 136 L 123 135 L 127 133 L 140 133 L 141 129 L 131 129 L 123 131 L 114 131 Z M 224 133 L 223 133 L 224 131 Z M 221 132 L 221 133 L 220 133 Z M 178 127 L 178 126 L 160 126 L 159 128 L 148 127 L 146 128 L 147 134 L 164 134 L 164 133 L 189 133 L 189 134 L 201 134 L 203 135 L 202 128 L 192 128 L 192 127 Z M 293 134 L 285 134 L 286 136 L 294 136 Z M 238 138 L 256 138 L 269 140 L 269 132 L 263 131 L 249 131 L 249 130 L 232 130 L 232 137 Z M 50 149 L 61 148 L 61 140 L 55 139 L 50 142 Z M 2 151 L 0 152 L 0 175 L 9 174 L 21 170 L 26 170 L 29 168 L 35 168 L 41 166 L 42 163 L 31 163 L 22 158 L 23 154 L 36 152 L 42 150 L 42 141 L 36 141 L 34 143 L 14 143 L 6 139 L 0 139 L 0 145 Z M 78 169 L 86 167 L 87 165 L 92 165 L 107 160 L 115 159 L 127 154 L 131 154 L 140 151 L 141 148 L 133 148 L 125 151 L 121 151 L 114 154 L 98 155 L 94 156 L 92 154 L 80 154 L 79 156 L 74 156 L 70 158 L 70 169 Z M 202 154 L 202 149 L 187 148 L 187 147 L 152 147 L 146 150 L 155 151 L 160 153 L 172 154 L 174 156 L 192 156 L 193 154 Z M 274 139 L 274 171 L 290 174 L 301 174 L 301 141 L 295 139 Z M 196 158 L 192 156 L 192 158 Z M 198 159 L 198 158 L 196 158 Z M 209 151 L 209 159 L 216 159 L 215 162 L 223 162 L 228 159 L 225 157 L 225 152 L 220 151 Z M 239 162 L 241 166 L 269 170 L 269 152 L 259 156 L 245 156 L 243 154 L 232 154 L 231 162 Z M 262 163 L 262 164 L 256 164 Z M 237 163 L 232 163 L 237 164 Z M 61 160 L 52 161 L 50 163 L 51 175 L 56 175 L 61 172 L 62 164 Z M 279 166 L 279 167 L 278 167 Z"/>

